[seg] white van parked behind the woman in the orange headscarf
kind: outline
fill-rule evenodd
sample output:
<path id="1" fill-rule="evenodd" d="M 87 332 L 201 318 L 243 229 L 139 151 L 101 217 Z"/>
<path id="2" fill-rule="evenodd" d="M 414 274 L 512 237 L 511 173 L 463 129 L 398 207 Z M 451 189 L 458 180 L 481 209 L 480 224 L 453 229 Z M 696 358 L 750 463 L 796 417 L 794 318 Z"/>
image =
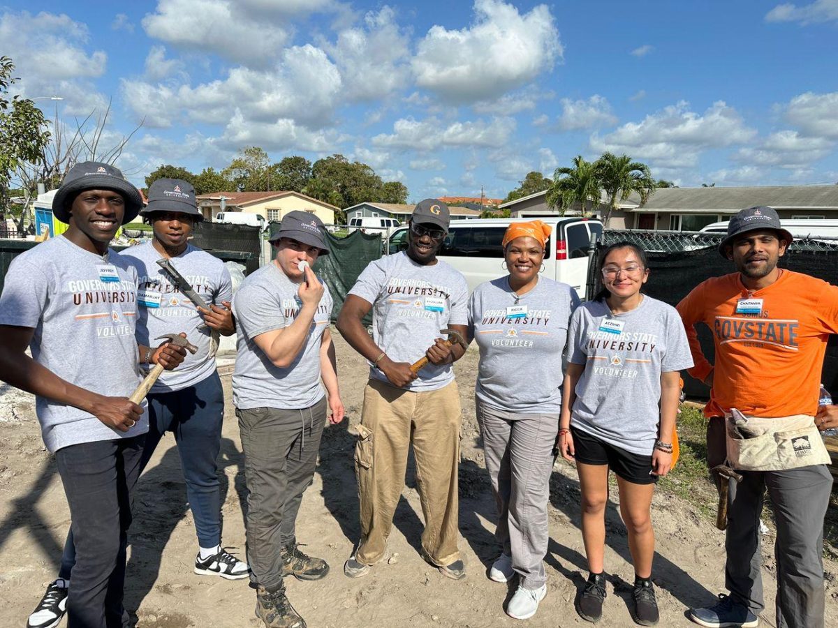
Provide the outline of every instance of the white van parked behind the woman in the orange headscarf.
<path id="1" fill-rule="evenodd" d="M 453 221 L 437 257 L 465 275 L 468 291 L 471 292 L 478 284 L 506 274 L 507 271 L 501 267 L 504 250 L 500 243 L 504 232 L 510 223 L 527 220 L 491 218 Z M 572 286 L 579 298 L 584 300 L 587 250 L 592 234 L 596 234 L 597 239 L 603 239 L 603 224 L 599 220 L 585 218 L 542 217 L 541 220 L 553 228 L 546 242 L 544 276 Z M 405 225 L 391 235 L 388 246 L 391 255 L 407 248 L 407 229 Z"/>

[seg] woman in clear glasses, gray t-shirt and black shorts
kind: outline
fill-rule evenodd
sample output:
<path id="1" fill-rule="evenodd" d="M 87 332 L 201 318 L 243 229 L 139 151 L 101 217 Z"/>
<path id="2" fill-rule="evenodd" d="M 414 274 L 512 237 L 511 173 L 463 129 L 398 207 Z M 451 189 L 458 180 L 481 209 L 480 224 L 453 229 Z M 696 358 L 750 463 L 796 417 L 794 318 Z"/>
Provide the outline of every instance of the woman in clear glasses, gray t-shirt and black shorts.
<path id="1" fill-rule="evenodd" d="M 620 513 L 634 563 L 634 620 L 659 620 L 652 586 L 654 483 L 672 466 L 679 371 L 692 366 L 675 308 L 641 292 L 646 254 L 618 242 L 600 256 L 603 290 L 574 312 L 567 332 L 567 370 L 558 446 L 575 461 L 582 493 L 582 540 L 590 575 L 577 612 L 603 614 L 608 470 L 617 476 Z"/>

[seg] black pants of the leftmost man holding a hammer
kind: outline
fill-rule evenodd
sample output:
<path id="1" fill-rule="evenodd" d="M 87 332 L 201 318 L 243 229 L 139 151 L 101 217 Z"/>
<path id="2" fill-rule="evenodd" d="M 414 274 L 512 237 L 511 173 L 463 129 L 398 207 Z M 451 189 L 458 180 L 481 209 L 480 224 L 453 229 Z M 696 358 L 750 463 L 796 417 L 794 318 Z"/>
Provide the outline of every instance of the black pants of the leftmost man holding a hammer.
<path id="1" fill-rule="evenodd" d="M 68 628 L 122 628 L 125 551 L 132 492 L 145 435 L 59 449 L 55 462 L 70 505 L 75 538 Z"/>

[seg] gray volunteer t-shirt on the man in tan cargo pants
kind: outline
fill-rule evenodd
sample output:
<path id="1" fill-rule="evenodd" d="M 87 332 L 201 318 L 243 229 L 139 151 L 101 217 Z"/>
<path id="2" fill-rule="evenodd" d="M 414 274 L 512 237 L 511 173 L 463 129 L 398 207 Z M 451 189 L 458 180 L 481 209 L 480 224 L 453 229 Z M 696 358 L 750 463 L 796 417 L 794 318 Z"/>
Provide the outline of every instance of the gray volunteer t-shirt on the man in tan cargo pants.
<path id="1" fill-rule="evenodd" d="M 372 308 L 372 337 L 394 362 L 414 363 L 424 357 L 439 330 L 468 324 L 468 286 L 458 270 L 437 260 L 421 265 L 405 253 L 370 262 L 349 291 Z M 370 364 L 370 378 L 387 378 Z M 451 364 L 428 364 L 406 390 L 437 390 L 453 382 Z"/>

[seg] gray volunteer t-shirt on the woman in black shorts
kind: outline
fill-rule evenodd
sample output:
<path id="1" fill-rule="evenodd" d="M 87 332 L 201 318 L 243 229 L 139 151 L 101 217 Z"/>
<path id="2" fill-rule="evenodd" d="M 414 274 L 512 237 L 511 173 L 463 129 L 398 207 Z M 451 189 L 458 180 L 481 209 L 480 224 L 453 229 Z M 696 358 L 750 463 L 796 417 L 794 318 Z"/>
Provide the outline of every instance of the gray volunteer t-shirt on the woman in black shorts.
<path id="1" fill-rule="evenodd" d="M 672 306 L 644 296 L 613 315 L 604 301 L 573 312 L 567 360 L 584 364 L 571 424 L 641 456 L 650 456 L 660 424 L 660 373 L 692 366 L 684 323 Z"/>

